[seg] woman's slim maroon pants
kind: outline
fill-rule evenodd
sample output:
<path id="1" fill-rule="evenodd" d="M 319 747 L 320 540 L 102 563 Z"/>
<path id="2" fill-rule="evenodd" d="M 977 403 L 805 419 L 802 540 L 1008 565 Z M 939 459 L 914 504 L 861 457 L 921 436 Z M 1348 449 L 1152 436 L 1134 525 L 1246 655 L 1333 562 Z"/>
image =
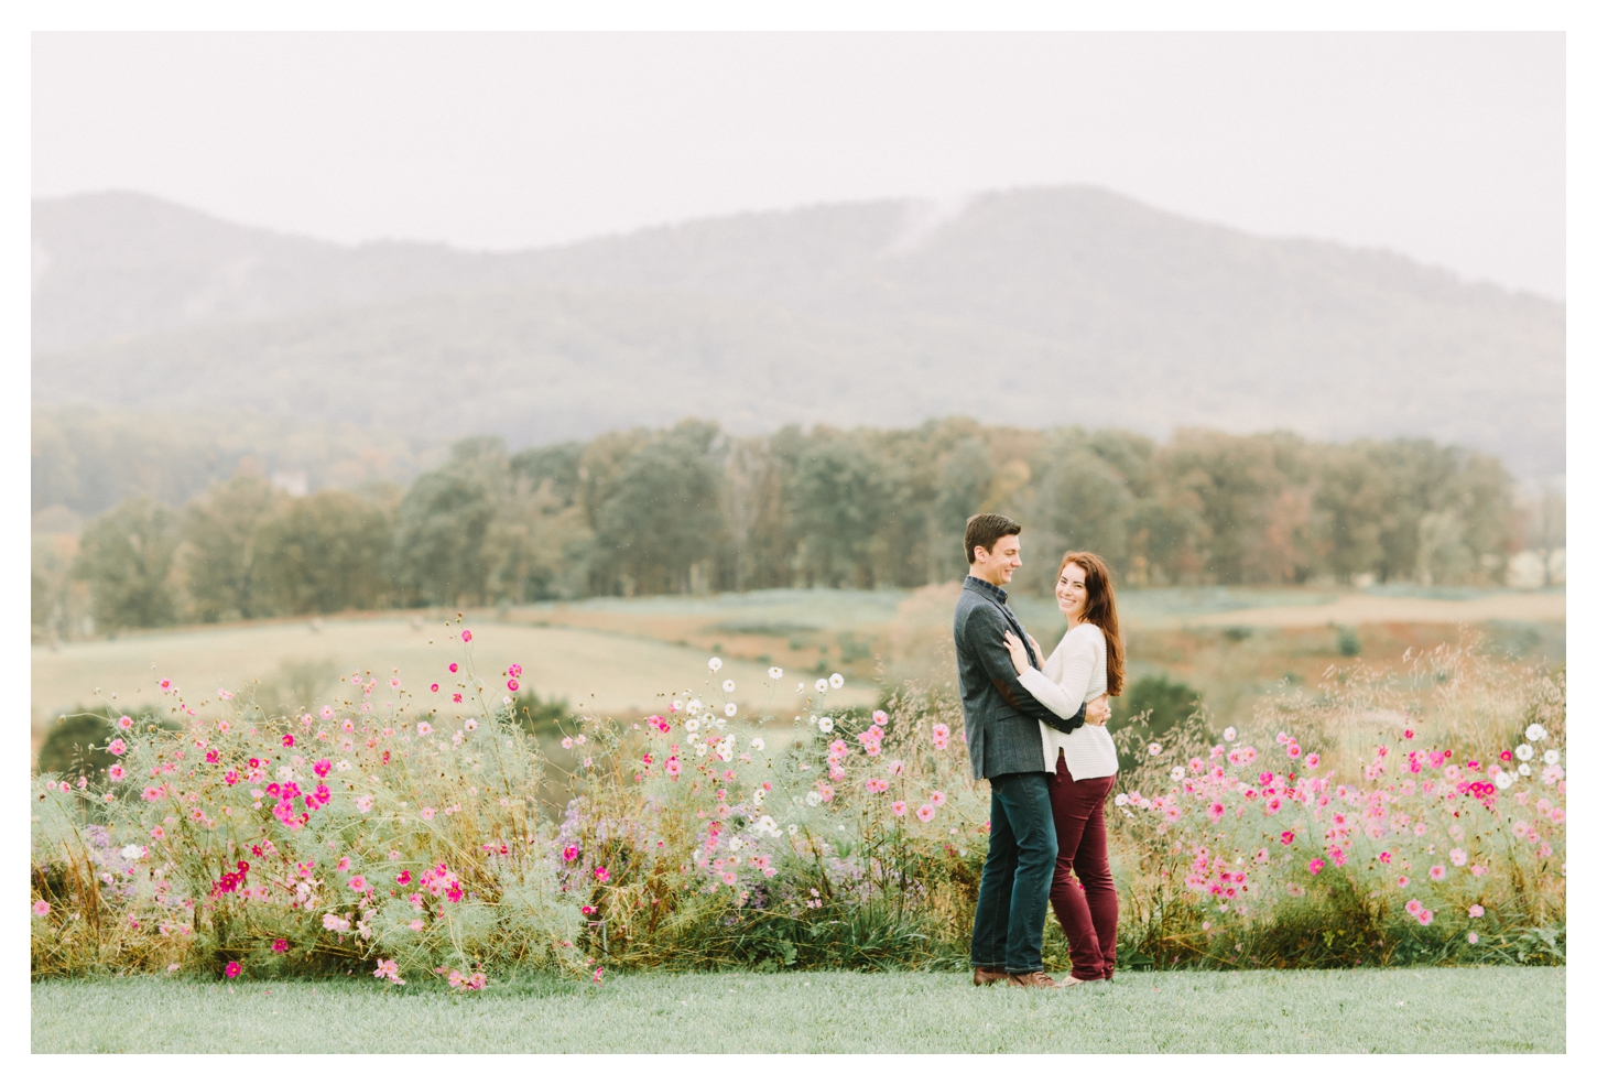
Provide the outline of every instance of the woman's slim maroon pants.
<path id="1" fill-rule="evenodd" d="M 1115 975 L 1119 900 L 1108 872 L 1108 834 L 1104 829 L 1104 802 L 1113 789 L 1115 777 L 1072 780 L 1064 754 L 1059 754 L 1059 765 L 1048 781 L 1059 837 L 1059 860 L 1048 900 L 1065 928 L 1070 975 L 1076 980 L 1108 980 Z"/>

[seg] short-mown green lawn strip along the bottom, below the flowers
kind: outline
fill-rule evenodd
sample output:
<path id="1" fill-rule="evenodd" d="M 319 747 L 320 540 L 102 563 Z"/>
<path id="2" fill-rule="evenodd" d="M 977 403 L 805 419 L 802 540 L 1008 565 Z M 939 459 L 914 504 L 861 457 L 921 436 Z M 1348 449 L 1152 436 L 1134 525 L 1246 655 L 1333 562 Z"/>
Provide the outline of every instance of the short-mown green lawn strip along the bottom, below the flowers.
<path id="1" fill-rule="evenodd" d="M 441 986 L 441 984 L 439 984 Z M 34 1051 L 1563 1051 L 1563 968 L 35 983 Z"/>

